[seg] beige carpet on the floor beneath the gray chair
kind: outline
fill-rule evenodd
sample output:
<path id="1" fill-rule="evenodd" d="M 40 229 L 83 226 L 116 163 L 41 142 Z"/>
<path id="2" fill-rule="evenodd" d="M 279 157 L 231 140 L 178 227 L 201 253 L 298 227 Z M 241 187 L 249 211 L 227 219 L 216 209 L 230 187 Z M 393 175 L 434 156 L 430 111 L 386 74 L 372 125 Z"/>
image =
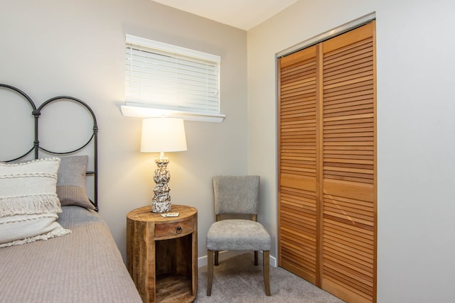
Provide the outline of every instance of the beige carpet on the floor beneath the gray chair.
<path id="1" fill-rule="evenodd" d="M 260 254 L 259 254 L 260 255 Z M 207 297 L 207 267 L 199 268 L 198 295 L 194 302 L 308 302 L 339 303 L 325 292 L 283 268 L 270 267 L 270 293 L 264 292 L 262 260 L 254 264 L 252 253 L 220 261 L 213 274 L 212 295 Z"/>

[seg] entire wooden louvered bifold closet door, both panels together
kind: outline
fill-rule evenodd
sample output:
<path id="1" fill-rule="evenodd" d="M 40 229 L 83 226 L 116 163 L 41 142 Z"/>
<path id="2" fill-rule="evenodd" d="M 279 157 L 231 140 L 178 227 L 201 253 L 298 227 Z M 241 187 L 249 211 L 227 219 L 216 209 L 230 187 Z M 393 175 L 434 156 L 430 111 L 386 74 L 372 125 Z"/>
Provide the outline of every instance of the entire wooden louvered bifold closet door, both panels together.
<path id="1" fill-rule="evenodd" d="M 375 23 L 279 59 L 279 266 L 376 300 Z"/>

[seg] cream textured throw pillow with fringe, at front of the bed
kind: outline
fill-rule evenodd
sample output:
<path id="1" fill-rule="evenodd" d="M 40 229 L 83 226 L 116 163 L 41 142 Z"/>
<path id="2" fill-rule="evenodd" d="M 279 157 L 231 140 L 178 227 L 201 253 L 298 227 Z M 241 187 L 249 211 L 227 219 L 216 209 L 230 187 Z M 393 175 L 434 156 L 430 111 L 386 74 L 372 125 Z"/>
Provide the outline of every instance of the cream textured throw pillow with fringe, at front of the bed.
<path id="1" fill-rule="evenodd" d="M 70 233 L 56 220 L 59 158 L 0 163 L 0 247 Z"/>

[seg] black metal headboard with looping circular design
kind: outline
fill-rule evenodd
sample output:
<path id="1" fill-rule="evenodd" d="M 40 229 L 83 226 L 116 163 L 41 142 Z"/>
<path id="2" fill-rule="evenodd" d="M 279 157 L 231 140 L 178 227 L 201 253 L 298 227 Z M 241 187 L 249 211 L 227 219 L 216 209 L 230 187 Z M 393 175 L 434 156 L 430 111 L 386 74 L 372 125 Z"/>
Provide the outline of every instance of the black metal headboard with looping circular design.
<path id="1" fill-rule="evenodd" d="M 48 99 L 47 101 L 43 102 L 43 104 L 41 104 L 41 106 L 36 108 L 36 105 L 32 101 L 32 99 L 30 97 L 28 97 L 28 95 L 26 93 L 22 92 L 20 89 L 18 89 L 16 87 L 12 87 L 11 85 L 8 85 L 8 84 L 0 84 L 0 88 L 1 89 L 10 89 L 10 90 L 20 94 L 24 99 L 26 99 L 28 101 L 28 103 L 30 104 L 30 106 L 32 108 L 31 114 L 34 117 L 34 130 L 35 130 L 33 147 L 30 150 L 28 150 L 26 153 L 24 153 L 23 155 L 20 155 L 19 157 L 14 158 L 14 159 L 5 160 L 4 162 L 12 162 L 12 161 L 20 160 L 22 158 L 25 158 L 27 155 L 29 155 L 31 153 L 33 153 L 33 157 L 35 159 L 38 159 L 40 151 L 43 151 L 50 155 L 70 155 L 70 154 L 77 153 L 78 151 L 87 147 L 87 145 L 89 145 L 92 142 L 93 143 L 93 154 L 92 155 L 93 155 L 93 159 L 94 159 L 93 160 L 93 162 L 94 162 L 93 170 L 87 171 L 87 175 L 93 176 L 94 192 L 93 192 L 93 200 L 90 199 L 90 202 L 92 202 L 92 204 L 95 206 L 95 210 L 97 211 L 98 210 L 98 142 L 97 142 L 98 126 L 97 126 L 97 119 L 95 117 L 95 113 L 92 111 L 90 106 L 88 106 L 84 101 L 81 101 L 80 99 L 77 99 L 75 97 L 59 96 L 59 97 L 53 97 L 51 99 Z M 84 106 L 85 109 L 87 109 L 87 111 L 90 112 L 90 114 L 92 116 L 92 120 L 93 120 L 93 132 L 92 132 L 92 136 L 90 136 L 89 140 L 86 143 L 84 143 L 82 146 L 80 146 L 74 150 L 65 151 L 63 153 L 45 149 L 40 145 L 40 141 L 39 141 L 40 133 L 39 133 L 38 126 L 39 126 L 39 118 L 41 116 L 41 111 L 48 104 L 53 103 L 54 101 L 59 101 L 59 100 L 70 100 L 70 101 L 76 102 L 77 104 L 80 104 L 81 106 Z"/>

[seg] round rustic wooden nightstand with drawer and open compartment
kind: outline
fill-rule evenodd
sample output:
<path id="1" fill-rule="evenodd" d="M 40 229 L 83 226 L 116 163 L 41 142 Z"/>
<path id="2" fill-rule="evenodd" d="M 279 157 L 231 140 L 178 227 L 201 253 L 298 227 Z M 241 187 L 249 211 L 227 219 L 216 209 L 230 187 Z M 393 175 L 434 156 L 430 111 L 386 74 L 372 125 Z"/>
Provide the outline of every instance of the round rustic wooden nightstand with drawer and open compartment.
<path id="1" fill-rule="evenodd" d="M 198 292 L 198 211 L 172 205 L 164 218 L 151 206 L 127 214 L 127 267 L 143 302 L 193 302 Z"/>

